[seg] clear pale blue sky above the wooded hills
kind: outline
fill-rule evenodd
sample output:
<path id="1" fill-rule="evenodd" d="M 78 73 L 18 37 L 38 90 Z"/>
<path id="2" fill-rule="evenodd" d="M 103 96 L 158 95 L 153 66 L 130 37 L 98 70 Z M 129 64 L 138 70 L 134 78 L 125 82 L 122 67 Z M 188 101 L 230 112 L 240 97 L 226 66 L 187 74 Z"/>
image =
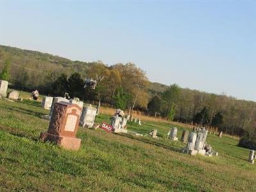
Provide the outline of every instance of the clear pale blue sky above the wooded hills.
<path id="1" fill-rule="evenodd" d="M 256 101 L 256 1 L 0 1 L 0 44 Z"/>

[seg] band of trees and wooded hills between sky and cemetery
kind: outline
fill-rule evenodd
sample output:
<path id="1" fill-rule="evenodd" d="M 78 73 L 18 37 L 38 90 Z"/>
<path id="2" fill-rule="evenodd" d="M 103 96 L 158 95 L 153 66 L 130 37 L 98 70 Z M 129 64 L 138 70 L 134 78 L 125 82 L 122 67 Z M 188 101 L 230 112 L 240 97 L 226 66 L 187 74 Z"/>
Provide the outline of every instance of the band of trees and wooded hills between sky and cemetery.
<path id="1" fill-rule="evenodd" d="M 105 65 L 101 61 L 70 61 L 42 52 L 0 46 L 1 79 L 22 90 L 79 97 L 115 108 L 136 109 L 189 124 L 218 127 L 227 134 L 243 136 L 241 145 L 256 148 L 256 103 L 150 83 L 133 63 Z M 9 73 L 8 73 L 9 71 Z M 84 88 L 84 79 L 100 79 L 95 90 Z"/>

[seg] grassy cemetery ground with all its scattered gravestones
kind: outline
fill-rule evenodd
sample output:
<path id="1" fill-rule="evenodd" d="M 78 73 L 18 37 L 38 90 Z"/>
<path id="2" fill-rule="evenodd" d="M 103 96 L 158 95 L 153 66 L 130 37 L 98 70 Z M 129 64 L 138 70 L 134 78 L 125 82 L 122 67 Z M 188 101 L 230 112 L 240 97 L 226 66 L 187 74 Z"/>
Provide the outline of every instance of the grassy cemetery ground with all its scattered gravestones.
<path id="1" fill-rule="evenodd" d="M 222 132 L 143 120 L 120 109 L 97 115 L 97 106 L 77 98 L 40 95 L 34 100 L 28 93 L 10 102 L 5 89 L 0 99 L 0 188 L 256 190 L 255 151 L 237 147 L 238 140 Z M 19 92 L 12 95 L 17 98 Z"/>

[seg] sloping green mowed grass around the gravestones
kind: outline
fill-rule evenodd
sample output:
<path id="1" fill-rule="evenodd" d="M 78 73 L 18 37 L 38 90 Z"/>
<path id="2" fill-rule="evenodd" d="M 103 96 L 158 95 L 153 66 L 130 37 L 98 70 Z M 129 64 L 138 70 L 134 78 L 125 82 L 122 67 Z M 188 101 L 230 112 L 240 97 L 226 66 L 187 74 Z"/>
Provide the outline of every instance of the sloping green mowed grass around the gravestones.
<path id="1" fill-rule="evenodd" d="M 172 125 L 142 122 L 128 129 L 157 129 L 159 140 L 79 128 L 74 152 L 39 140 L 48 113 L 38 102 L 0 99 L 0 191 L 256 191 L 256 164 L 237 140 L 209 135 L 220 155 L 189 156 L 179 152 L 183 143 L 166 140 Z M 178 128 L 180 138 L 186 127 Z"/>

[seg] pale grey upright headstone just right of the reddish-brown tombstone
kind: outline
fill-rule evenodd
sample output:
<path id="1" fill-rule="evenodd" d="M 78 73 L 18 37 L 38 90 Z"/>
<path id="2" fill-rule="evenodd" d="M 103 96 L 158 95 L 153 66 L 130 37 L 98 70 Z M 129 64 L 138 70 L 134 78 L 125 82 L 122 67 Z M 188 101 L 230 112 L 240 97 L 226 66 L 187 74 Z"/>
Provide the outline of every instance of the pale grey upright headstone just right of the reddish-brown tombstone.
<path id="1" fill-rule="evenodd" d="M 94 125 L 95 117 L 97 115 L 97 109 L 91 105 L 83 108 L 83 113 L 80 118 L 80 124 L 83 127 L 92 128 Z"/>

